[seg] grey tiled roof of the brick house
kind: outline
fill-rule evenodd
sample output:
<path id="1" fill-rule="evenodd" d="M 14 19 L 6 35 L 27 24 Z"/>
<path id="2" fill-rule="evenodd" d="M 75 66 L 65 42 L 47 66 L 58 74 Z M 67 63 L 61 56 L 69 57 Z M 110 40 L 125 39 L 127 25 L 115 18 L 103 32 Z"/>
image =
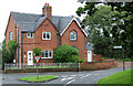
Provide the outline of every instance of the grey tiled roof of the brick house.
<path id="1" fill-rule="evenodd" d="M 11 12 L 13 20 L 20 24 L 22 32 L 34 32 L 35 29 L 43 22 L 47 17 L 42 17 L 41 14 L 30 14 L 30 13 L 20 13 L 20 12 Z M 52 23 L 57 26 L 59 32 L 62 32 L 63 29 L 70 23 L 73 15 L 70 17 L 52 17 Z M 80 19 L 76 18 L 79 22 Z M 86 32 L 86 31 L 85 31 Z"/>

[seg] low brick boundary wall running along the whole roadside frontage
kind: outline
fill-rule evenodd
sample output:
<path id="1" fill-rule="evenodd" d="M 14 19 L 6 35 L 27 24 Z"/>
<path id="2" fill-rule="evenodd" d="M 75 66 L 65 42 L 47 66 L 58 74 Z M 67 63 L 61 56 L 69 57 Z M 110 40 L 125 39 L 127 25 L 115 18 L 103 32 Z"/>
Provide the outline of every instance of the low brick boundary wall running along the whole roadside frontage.
<path id="1" fill-rule="evenodd" d="M 114 60 L 105 60 L 103 62 L 89 62 L 80 63 L 79 67 L 75 68 L 39 68 L 40 73 L 43 72 L 78 72 L 78 71 L 98 71 L 108 69 L 114 67 Z M 6 73 L 35 73 L 37 68 L 25 68 L 25 69 L 7 69 Z"/>

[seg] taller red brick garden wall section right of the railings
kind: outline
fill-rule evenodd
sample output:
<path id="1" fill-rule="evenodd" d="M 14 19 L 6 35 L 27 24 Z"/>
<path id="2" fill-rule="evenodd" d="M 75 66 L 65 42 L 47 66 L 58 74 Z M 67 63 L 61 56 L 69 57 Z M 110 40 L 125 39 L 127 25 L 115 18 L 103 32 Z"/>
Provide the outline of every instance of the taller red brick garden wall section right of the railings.
<path id="1" fill-rule="evenodd" d="M 81 63 L 80 69 L 81 71 L 96 71 L 96 69 L 111 68 L 113 66 L 114 66 L 114 60 L 105 60 L 103 62 Z"/>

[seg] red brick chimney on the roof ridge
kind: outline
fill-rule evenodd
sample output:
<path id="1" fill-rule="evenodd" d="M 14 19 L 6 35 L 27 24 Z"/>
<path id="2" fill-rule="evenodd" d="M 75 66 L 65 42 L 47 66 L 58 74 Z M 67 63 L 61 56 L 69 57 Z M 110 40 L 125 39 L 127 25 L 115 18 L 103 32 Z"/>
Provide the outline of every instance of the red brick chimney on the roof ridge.
<path id="1" fill-rule="evenodd" d="M 42 8 L 42 15 L 47 15 L 50 20 L 52 19 L 52 7 L 45 3 Z"/>

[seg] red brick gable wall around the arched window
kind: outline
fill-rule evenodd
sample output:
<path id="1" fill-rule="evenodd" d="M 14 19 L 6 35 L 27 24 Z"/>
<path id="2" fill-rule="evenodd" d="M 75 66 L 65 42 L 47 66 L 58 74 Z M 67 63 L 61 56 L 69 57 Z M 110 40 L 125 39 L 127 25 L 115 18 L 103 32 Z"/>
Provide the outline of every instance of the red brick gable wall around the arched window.
<path id="1" fill-rule="evenodd" d="M 73 30 L 73 29 L 78 32 L 78 41 L 70 41 L 70 31 Z M 86 36 L 85 36 L 85 41 L 86 41 Z M 88 52 L 86 52 L 86 50 L 84 50 L 84 33 L 78 26 L 75 21 L 73 21 L 69 25 L 66 31 L 63 33 L 63 35 L 62 35 L 62 45 L 63 44 L 76 46 L 79 49 L 79 52 L 80 52 L 80 57 L 83 58 L 84 61 L 88 60 Z"/>

